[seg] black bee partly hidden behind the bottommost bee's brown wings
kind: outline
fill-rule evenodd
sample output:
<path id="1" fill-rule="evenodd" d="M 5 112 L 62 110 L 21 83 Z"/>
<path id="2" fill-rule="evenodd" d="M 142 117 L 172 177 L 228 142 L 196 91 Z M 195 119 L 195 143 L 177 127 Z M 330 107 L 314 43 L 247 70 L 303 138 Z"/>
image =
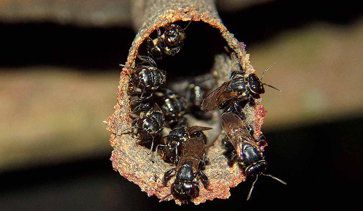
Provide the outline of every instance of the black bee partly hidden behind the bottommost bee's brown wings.
<path id="1" fill-rule="evenodd" d="M 158 147 L 161 147 L 162 158 L 166 162 L 174 162 L 176 155 L 179 155 L 180 149 L 183 148 L 185 142 L 190 138 L 201 138 L 204 144 L 207 143 L 207 137 L 204 135 L 203 130 L 210 130 L 211 127 L 191 126 L 185 125 L 175 128 L 169 132 L 169 135 L 164 136 L 163 143 L 156 146 L 155 161 L 157 160 Z"/>

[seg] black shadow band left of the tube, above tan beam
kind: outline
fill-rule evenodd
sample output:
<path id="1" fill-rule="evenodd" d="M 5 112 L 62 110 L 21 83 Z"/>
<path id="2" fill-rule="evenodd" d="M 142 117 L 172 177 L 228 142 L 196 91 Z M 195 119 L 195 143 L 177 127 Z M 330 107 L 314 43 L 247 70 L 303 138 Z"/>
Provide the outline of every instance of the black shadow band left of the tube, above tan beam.
<path id="1" fill-rule="evenodd" d="M 0 23 L 0 67 L 120 69 L 135 33 L 127 28 L 78 28 L 52 23 Z"/>

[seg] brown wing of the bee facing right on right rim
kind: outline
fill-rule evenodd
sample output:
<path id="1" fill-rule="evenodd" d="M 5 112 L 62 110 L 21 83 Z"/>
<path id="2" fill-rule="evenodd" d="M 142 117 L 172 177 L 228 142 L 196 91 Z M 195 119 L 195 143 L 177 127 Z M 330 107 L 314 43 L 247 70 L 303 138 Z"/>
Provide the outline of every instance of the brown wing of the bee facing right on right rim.
<path id="1" fill-rule="evenodd" d="M 225 86 L 227 82 L 222 84 L 220 87 L 215 89 L 213 92 L 209 93 L 207 97 L 204 98 L 201 109 L 205 112 L 211 111 L 222 104 L 224 101 L 230 100 L 237 96 L 236 93 L 227 92 Z"/>

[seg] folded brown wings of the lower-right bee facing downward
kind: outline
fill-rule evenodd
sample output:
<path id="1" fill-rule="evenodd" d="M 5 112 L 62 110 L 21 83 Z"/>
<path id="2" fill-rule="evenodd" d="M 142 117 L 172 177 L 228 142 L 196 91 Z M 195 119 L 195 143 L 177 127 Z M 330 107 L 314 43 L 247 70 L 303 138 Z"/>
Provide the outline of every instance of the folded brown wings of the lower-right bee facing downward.
<path id="1" fill-rule="evenodd" d="M 228 139 L 231 141 L 237 156 L 241 159 L 243 156 L 243 142 L 246 141 L 253 147 L 258 148 L 252 136 L 249 134 L 244 122 L 237 114 L 228 112 L 221 116 L 221 126 L 225 131 Z"/>

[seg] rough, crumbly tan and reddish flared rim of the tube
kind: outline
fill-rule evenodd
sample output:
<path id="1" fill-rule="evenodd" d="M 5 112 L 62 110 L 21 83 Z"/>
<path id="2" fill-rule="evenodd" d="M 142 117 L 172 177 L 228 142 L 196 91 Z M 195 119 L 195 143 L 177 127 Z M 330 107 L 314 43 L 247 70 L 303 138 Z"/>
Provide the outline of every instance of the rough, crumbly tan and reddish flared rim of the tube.
<path id="1" fill-rule="evenodd" d="M 192 12 L 190 12 L 192 13 Z M 221 23 L 212 25 L 208 22 L 208 17 L 193 14 L 193 21 L 185 29 L 186 38 L 184 45 L 178 54 L 174 56 L 165 56 L 162 59 L 155 60 L 157 67 L 166 72 L 166 83 L 164 87 L 176 92 L 176 94 L 187 97 L 188 86 L 192 83 L 198 83 L 206 93 L 211 92 L 226 81 L 229 81 L 231 72 L 244 71 L 246 74 L 253 72 L 253 67 L 248 61 L 248 54 L 245 53 L 244 44 L 238 42 L 232 34 Z M 175 23 L 185 28 L 191 20 L 192 14 L 181 12 L 179 20 L 174 22 L 165 22 L 163 19 L 155 23 L 155 26 L 147 30 L 141 30 L 133 42 L 126 66 L 135 68 L 137 64 L 137 55 L 147 55 L 146 39 L 157 37 L 156 29 L 160 28 L 160 32 L 164 33 L 163 27 L 167 24 Z M 175 15 L 177 18 L 177 15 Z M 184 21 L 180 21 L 184 20 Z M 130 111 L 137 105 L 130 105 L 129 85 L 130 77 L 135 73 L 135 69 L 123 68 L 120 76 L 119 92 L 117 96 L 117 105 L 112 117 L 106 121 L 107 129 L 112 133 L 110 144 L 114 147 L 111 161 L 114 170 L 118 171 L 122 176 L 140 186 L 148 196 L 156 195 L 159 199 L 170 194 L 170 186 L 174 181 L 171 177 L 167 185 L 162 183 L 164 173 L 174 168 L 175 165 L 167 163 L 161 159 L 160 154 L 155 160 L 155 146 L 162 144 L 163 136 L 168 135 L 170 128 L 164 127 L 162 135 L 155 138 L 154 148 L 151 155 L 150 143 L 138 144 L 137 139 L 132 138 L 130 134 L 125 134 L 125 129 L 131 126 L 135 114 Z M 204 96 L 205 97 L 205 96 Z M 153 102 L 150 102 L 152 104 Z M 260 127 L 264 120 L 266 110 L 264 110 L 260 100 L 256 100 L 256 105 L 246 105 L 244 113 L 245 121 L 248 122 L 255 131 L 255 136 L 259 135 Z M 236 186 L 245 180 L 245 174 L 237 163 L 231 165 L 224 155 L 224 147 L 221 144 L 220 115 L 222 110 L 215 109 L 207 114 L 207 117 L 200 118 L 190 114 L 183 115 L 188 126 L 204 126 L 211 127 L 211 130 L 203 131 L 207 136 L 208 164 L 205 165 L 203 172 L 209 179 L 208 190 L 199 183 L 199 196 L 190 200 L 195 204 L 205 202 L 207 199 L 228 198 L 229 188 Z M 208 116 L 209 115 L 209 116 Z M 123 132 L 122 132 L 123 131 Z M 149 147 L 149 148 L 148 148 Z M 175 199 L 173 195 L 165 198 L 165 200 Z M 175 199 L 180 204 L 181 201 Z"/>

